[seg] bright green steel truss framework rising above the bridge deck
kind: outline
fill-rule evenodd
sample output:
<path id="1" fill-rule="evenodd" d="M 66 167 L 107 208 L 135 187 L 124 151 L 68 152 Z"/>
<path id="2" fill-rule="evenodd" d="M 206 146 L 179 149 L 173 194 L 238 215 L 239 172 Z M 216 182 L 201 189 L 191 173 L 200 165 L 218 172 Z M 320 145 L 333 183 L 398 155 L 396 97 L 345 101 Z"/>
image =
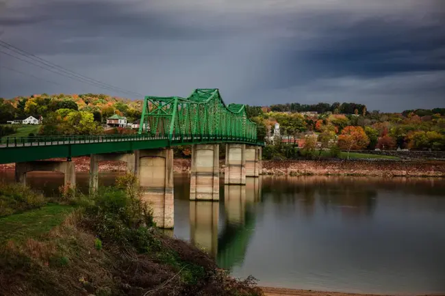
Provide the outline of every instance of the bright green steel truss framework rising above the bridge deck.
<path id="1" fill-rule="evenodd" d="M 183 139 L 257 140 L 257 126 L 240 104 L 225 105 L 218 89 L 196 89 L 188 98 L 146 96 L 139 134 Z"/>

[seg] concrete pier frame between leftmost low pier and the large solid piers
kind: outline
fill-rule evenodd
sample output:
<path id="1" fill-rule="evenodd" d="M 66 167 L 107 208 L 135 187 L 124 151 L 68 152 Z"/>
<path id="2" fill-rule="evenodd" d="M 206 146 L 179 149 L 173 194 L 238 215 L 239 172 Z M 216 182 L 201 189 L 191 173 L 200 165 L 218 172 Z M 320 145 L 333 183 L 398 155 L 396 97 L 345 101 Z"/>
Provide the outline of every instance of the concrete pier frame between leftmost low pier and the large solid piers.
<path id="1" fill-rule="evenodd" d="M 91 154 L 90 155 L 90 193 L 97 190 L 99 186 L 99 161 L 124 161 L 127 163 L 127 172 L 137 174 L 138 171 L 138 155 L 136 150 L 132 154 L 129 153 L 107 153 L 107 154 Z"/>

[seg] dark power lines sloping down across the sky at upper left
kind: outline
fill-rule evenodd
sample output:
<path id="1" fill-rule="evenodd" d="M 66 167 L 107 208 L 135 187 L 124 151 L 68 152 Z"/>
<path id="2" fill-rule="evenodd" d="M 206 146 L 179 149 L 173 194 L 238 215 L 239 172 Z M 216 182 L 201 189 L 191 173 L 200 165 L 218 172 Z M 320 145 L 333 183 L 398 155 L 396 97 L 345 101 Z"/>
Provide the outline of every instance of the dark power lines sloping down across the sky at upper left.
<path id="1" fill-rule="evenodd" d="M 28 59 L 32 59 L 32 60 L 34 60 L 34 61 L 36 61 L 36 62 L 38 62 L 40 64 L 43 64 L 44 66 L 36 65 L 36 64 L 34 64 L 32 62 L 20 59 L 20 58 L 14 56 L 14 55 L 10 55 L 8 53 L 5 53 L 4 51 L 0 51 L 1 53 L 4 53 L 6 55 L 10 55 L 11 57 L 15 57 L 16 59 L 20 59 L 23 62 L 28 62 L 29 64 L 33 64 L 34 66 L 38 66 L 40 68 L 44 68 L 45 70 L 49 70 L 51 72 L 55 72 L 56 74 L 64 75 L 64 76 L 66 76 L 68 78 L 75 79 L 77 81 L 81 81 L 81 82 L 84 82 L 84 83 L 97 85 L 100 88 L 105 88 L 107 90 L 112 90 L 114 92 L 122 92 L 122 93 L 125 93 L 125 94 L 131 94 L 131 95 L 136 95 L 136 96 L 143 96 L 142 94 L 139 94 L 138 92 L 132 92 L 132 91 L 129 91 L 129 90 L 125 90 L 123 88 L 118 88 L 118 87 L 116 87 L 114 85 L 111 85 L 109 83 L 104 83 L 104 82 L 99 81 L 97 79 L 92 79 L 90 77 L 86 77 L 85 75 L 78 74 L 77 72 L 74 72 L 74 71 L 69 70 L 67 68 L 64 68 L 62 66 L 59 66 L 58 64 L 54 64 L 52 62 L 49 62 L 46 59 L 42 59 L 41 57 L 33 55 L 32 53 L 29 53 L 27 51 L 23 51 L 23 49 L 19 49 L 18 47 L 14 46 L 12 44 L 9 44 L 8 42 L 4 42 L 4 41 L 0 40 L 0 46 L 2 46 L 5 49 L 9 49 L 10 51 L 14 51 L 15 53 L 18 53 L 19 55 L 23 55 L 24 57 L 27 57 Z"/>

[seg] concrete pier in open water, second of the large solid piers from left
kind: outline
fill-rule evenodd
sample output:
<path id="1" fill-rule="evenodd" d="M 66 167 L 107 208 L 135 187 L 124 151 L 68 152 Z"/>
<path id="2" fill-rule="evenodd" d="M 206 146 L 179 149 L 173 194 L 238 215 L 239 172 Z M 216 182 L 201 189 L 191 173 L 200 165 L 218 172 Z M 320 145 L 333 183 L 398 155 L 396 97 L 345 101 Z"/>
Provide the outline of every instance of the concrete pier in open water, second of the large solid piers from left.
<path id="1" fill-rule="evenodd" d="M 193 145 L 190 200 L 219 200 L 219 145 Z"/>

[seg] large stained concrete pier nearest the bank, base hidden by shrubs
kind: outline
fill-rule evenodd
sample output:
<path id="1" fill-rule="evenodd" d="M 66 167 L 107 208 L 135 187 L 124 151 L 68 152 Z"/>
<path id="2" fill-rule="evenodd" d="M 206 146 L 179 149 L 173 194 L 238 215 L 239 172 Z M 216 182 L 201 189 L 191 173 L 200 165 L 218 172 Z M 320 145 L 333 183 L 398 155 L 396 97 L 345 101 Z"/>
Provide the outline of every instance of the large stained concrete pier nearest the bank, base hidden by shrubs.
<path id="1" fill-rule="evenodd" d="M 173 149 L 140 150 L 138 175 L 157 227 L 173 228 Z"/>

